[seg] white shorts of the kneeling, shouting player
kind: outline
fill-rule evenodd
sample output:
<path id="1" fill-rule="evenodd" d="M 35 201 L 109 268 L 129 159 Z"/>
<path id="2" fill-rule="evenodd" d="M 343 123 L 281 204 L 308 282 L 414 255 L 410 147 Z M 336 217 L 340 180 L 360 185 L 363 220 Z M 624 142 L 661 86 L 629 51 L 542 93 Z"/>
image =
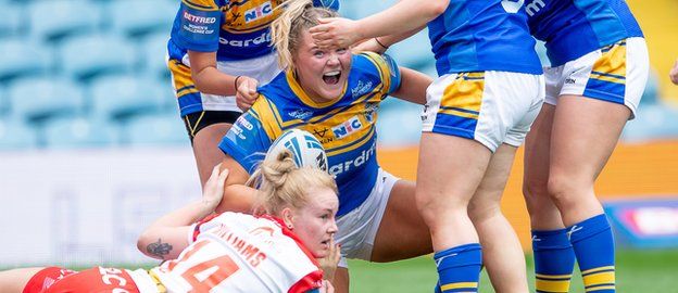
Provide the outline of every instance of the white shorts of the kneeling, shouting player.
<path id="1" fill-rule="evenodd" d="M 379 168 L 377 182 L 365 202 L 337 219 L 339 232 L 336 241 L 341 244 L 339 267 L 348 267 L 347 258 L 371 259 L 391 189 L 398 180 L 400 179 Z"/>

